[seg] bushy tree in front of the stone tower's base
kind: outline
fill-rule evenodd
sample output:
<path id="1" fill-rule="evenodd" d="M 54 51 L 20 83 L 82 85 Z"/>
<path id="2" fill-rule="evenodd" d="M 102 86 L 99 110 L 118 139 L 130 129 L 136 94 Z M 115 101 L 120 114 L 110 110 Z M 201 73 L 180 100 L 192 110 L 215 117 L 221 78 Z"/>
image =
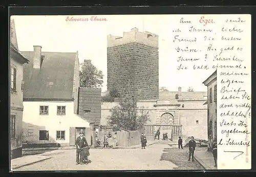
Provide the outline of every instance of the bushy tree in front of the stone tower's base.
<path id="1" fill-rule="evenodd" d="M 143 106 L 138 107 L 134 99 L 122 98 L 119 105 L 113 107 L 111 116 L 107 122 L 115 128 L 125 128 L 127 130 L 137 130 L 150 120 L 150 111 Z"/>

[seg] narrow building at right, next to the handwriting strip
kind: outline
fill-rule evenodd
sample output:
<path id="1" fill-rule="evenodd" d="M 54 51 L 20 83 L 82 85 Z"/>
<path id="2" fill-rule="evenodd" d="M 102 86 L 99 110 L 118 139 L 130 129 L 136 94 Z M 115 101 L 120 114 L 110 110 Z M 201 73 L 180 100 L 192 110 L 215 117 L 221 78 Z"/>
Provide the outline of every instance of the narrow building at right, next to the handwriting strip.
<path id="1" fill-rule="evenodd" d="M 212 73 L 204 82 L 207 86 L 207 123 L 208 123 L 208 150 L 217 138 L 217 71 Z"/>

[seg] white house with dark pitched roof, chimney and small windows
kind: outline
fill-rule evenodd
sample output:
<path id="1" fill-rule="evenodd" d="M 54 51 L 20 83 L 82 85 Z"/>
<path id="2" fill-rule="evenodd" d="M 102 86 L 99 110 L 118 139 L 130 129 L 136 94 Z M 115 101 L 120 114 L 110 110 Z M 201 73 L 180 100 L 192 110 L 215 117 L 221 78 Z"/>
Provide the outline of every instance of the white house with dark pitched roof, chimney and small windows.
<path id="1" fill-rule="evenodd" d="M 26 146 L 75 145 L 79 131 L 91 144 L 94 122 L 79 115 L 79 60 L 76 53 L 23 52 L 23 142 Z"/>

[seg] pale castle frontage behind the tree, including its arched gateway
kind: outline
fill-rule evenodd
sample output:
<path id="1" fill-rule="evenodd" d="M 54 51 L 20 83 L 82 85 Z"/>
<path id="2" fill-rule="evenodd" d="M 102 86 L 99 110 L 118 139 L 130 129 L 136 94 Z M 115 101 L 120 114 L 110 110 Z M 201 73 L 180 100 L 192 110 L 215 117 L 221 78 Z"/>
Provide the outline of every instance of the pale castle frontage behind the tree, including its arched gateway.
<path id="1" fill-rule="evenodd" d="M 137 105 L 150 110 L 148 124 L 181 125 L 183 139 L 194 136 L 207 140 L 207 105 L 204 104 L 206 101 L 207 92 L 181 92 L 179 88 L 178 92 L 159 92 L 158 100 L 140 100 Z M 110 109 L 116 105 L 118 102 L 102 102 L 101 125 L 107 124 L 106 117 L 111 115 Z M 172 135 L 172 126 L 159 128 L 161 133 Z"/>

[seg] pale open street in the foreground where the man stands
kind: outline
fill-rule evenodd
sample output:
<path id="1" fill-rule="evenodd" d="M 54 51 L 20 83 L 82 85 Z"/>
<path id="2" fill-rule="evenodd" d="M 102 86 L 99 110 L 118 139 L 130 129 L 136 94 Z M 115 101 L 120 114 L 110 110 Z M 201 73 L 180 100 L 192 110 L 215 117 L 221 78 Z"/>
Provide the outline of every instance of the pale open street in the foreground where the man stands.
<path id="1" fill-rule="evenodd" d="M 166 144 L 154 144 L 146 149 L 90 149 L 92 162 L 88 165 L 75 164 L 75 149 L 54 150 L 42 155 L 52 158 L 15 171 L 202 169 L 198 162 L 187 162 L 187 150 L 169 148 Z"/>

